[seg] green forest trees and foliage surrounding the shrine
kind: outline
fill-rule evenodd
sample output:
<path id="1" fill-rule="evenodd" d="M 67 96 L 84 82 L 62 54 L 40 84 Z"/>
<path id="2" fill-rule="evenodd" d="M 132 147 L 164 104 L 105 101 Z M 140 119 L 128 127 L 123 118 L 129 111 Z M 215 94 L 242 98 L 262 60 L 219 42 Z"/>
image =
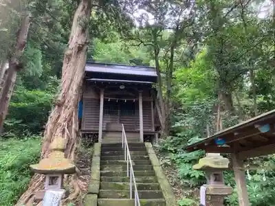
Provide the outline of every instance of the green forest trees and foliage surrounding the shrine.
<path id="1" fill-rule="evenodd" d="M 43 132 L 60 91 L 63 54 L 77 6 L 70 0 L 20 2 L 11 8 L 3 1 L 9 10 L 1 12 L 0 19 L 3 65 L 12 53 L 21 10 L 32 14 L 21 57 L 23 70 L 17 76 L 1 135 L 7 151 L 0 155 L 0 182 L 5 188 L 0 190 L 1 199 L 10 191 L 3 205 L 12 205 L 23 192 L 30 178 L 25 169 L 39 157 L 39 141 L 29 137 Z M 210 134 L 217 131 L 217 105 L 223 128 L 275 108 L 275 5 L 261 0 L 157 2 L 94 5 L 87 59 L 157 68 L 157 105 L 165 128 L 158 150 L 165 157 L 164 165 L 177 168 L 182 187 L 193 190 L 206 181 L 203 172 L 192 170 L 204 154 L 189 154 L 183 148 L 207 137 L 207 125 Z M 30 155 L 20 159 L 14 144 Z M 274 205 L 274 156 L 250 161 L 257 168 L 247 175 L 252 205 Z M 22 166 L 17 167 L 19 163 Z M 6 176 L 4 170 L 16 175 Z M 22 183 L 14 187 L 21 176 Z M 232 172 L 226 172 L 225 181 L 234 187 Z M 179 205 L 188 205 L 191 199 L 185 196 Z M 236 193 L 226 203 L 238 205 Z"/>

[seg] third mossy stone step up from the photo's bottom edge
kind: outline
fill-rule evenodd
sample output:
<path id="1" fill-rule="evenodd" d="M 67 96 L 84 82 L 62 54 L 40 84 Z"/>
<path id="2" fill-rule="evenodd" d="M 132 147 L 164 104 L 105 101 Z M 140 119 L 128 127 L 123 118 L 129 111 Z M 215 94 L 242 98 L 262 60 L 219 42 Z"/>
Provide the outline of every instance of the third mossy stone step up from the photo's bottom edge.
<path id="1" fill-rule="evenodd" d="M 101 182 L 100 190 L 130 190 L 130 183 Z M 137 183 L 137 190 L 160 190 L 160 188 L 158 183 Z"/>

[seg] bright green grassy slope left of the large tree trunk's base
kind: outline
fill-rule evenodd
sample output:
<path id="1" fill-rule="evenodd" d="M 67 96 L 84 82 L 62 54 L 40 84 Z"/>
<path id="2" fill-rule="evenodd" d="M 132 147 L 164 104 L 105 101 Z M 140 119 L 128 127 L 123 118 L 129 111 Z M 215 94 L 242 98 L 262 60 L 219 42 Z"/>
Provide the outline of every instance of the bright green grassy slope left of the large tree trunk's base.
<path id="1" fill-rule="evenodd" d="M 39 161 L 41 138 L 0 139 L 0 205 L 14 205 L 27 189 L 30 164 Z"/>

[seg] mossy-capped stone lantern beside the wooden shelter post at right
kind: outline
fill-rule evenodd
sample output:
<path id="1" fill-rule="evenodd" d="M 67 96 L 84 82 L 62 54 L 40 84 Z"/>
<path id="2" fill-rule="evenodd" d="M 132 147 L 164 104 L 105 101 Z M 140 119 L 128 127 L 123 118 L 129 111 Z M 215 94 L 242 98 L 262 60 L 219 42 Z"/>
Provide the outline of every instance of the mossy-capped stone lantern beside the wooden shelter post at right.
<path id="1" fill-rule="evenodd" d="M 206 153 L 206 157 L 199 159 L 193 166 L 195 170 L 206 171 L 206 185 L 201 187 L 201 198 L 210 196 L 210 205 L 223 206 L 225 196 L 232 194 L 232 187 L 223 181 L 223 170 L 228 170 L 229 160 L 215 153 Z M 203 192 L 205 193 L 203 196 Z M 201 200 L 201 205 L 206 206 L 206 199 Z"/>

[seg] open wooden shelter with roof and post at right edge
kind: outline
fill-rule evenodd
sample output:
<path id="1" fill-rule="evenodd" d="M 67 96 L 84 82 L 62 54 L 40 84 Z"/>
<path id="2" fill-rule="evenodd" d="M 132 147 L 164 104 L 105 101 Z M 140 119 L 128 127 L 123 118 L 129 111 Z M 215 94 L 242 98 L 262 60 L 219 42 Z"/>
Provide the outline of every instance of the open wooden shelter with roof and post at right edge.
<path id="1" fill-rule="evenodd" d="M 245 159 L 275 153 L 275 110 L 219 131 L 202 141 L 187 146 L 188 152 L 205 150 L 231 155 L 239 205 L 250 205 L 245 185 Z"/>

